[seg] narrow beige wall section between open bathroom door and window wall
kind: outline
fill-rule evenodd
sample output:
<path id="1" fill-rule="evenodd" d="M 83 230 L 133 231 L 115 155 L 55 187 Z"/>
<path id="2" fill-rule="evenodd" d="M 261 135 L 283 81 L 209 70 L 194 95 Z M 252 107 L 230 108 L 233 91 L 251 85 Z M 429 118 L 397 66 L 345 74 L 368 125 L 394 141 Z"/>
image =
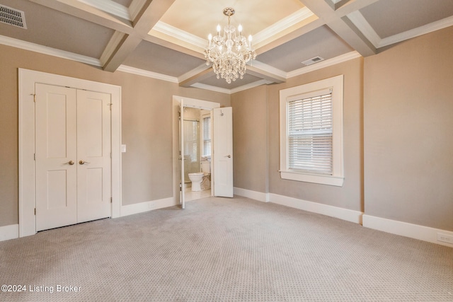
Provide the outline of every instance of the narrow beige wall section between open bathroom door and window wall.
<path id="1" fill-rule="evenodd" d="M 234 187 L 268 192 L 267 88 L 231 95 Z"/>

